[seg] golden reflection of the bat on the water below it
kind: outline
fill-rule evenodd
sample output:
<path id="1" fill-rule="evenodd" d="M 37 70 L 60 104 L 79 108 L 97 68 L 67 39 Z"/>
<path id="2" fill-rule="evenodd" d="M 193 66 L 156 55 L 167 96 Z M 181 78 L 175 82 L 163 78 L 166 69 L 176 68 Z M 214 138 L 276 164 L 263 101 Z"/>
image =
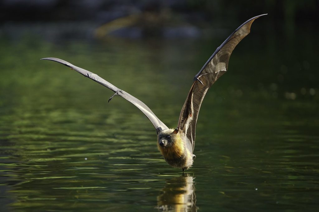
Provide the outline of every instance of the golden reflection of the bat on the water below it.
<path id="1" fill-rule="evenodd" d="M 157 197 L 159 211 L 197 211 L 194 177 L 183 174 L 167 180 Z"/>

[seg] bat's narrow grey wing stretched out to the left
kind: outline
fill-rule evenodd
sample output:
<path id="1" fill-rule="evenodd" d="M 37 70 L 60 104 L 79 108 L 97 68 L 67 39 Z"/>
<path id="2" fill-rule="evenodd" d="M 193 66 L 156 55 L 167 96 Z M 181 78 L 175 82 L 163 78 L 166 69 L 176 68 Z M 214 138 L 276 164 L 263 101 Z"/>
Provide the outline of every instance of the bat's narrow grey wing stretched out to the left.
<path id="1" fill-rule="evenodd" d="M 77 67 L 77 66 L 75 66 L 73 64 L 70 64 L 69 62 L 66 62 L 66 61 L 58 59 L 58 58 L 46 57 L 46 58 L 42 58 L 41 60 L 52 60 L 52 61 L 61 63 L 61 64 L 65 65 L 65 66 L 68 66 L 69 68 L 73 69 L 74 71 L 79 72 L 80 74 L 84 75 L 85 77 L 88 77 L 91 80 L 94 80 L 95 82 L 98 82 L 101 85 L 107 87 L 108 89 L 114 91 L 115 95 L 122 96 L 124 99 L 126 99 L 127 101 L 129 101 L 132 104 L 134 104 L 138 109 L 140 109 L 145 114 L 145 116 L 148 119 L 150 119 L 150 121 L 152 122 L 152 124 L 154 125 L 154 127 L 156 129 L 156 133 L 159 133 L 162 130 L 167 130 L 168 129 L 168 127 L 163 122 L 161 122 L 159 120 L 159 118 L 155 116 L 155 114 L 152 112 L 152 110 L 149 109 L 143 102 L 141 102 L 140 100 L 138 100 L 134 96 L 130 95 L 129 93 L 127 93 L 127 92 L 115 87 L 114 85 L 112 85 L 108 81 L 102 79 L 98 75 L 96 75 L 96 74 L 94 74 L 92 72 L 89 72 L 89 71 L 87 71 L 87 70 L 85 70 L 83 68 L 79 68 L 79 67 Z"/>

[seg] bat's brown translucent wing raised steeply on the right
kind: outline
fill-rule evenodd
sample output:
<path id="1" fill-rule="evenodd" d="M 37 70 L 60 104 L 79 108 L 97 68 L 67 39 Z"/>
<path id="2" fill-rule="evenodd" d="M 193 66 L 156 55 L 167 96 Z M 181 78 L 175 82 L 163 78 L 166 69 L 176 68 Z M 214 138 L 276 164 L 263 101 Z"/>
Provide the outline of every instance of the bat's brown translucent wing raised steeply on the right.
<path id="1" fill-rule="evenodd" d="M 216 49 L 214 54 L 212 54 L 202 69 L 196 74 L 194 78 L 195 81 L 190 88 L 189 94 L 182 107 L 177 125 L 177 129 L 185 133 L 191 142 L 193 151 L 195 146 L 195 128 L 198 112 L 206 92 L 211 85 L 226 72 L 230 55 L 232 54 L 235 46 L 249 34 L 250 26 L 253 21 L 263 15 L 251 18 L 239 26 Z"/>

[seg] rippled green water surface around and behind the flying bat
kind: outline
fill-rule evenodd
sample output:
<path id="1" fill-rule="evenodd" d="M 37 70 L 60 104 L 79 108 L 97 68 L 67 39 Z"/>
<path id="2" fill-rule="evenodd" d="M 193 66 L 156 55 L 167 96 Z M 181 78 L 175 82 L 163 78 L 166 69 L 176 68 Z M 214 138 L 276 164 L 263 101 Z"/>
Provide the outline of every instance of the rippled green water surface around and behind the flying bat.
<path id="1" fill-rule="evenodd" d="M 169 127 L 212 40 L 1 39 L 1 211 L 315 211 L 319 199 L 317 36 L 252 30 L 209 90 L 185 174 L 149 120 L 67 67 L 95 72 Z M 259 31 L 259 32 L 258 32 Z M 229 31 L 230 33 L 231 31 Z M 298 47 L 298 49 L 296 48 Z"/>

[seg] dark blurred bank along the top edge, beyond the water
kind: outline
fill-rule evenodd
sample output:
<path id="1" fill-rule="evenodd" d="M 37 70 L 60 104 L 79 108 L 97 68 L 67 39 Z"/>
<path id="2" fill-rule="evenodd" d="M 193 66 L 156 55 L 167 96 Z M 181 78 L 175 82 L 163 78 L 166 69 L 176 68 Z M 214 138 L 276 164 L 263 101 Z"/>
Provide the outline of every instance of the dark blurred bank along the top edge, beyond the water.
<path id="1" fill-rule="evenodd" d="M 161 13 L 169 11 L 190 22 L 236 18 L 246 19 L 262 13 L 271 14 L 273 20 L 301 23 L 312 20 L 318 23 L 318 0 L 6 0 L 0 3 L 0 19 L 6 21 L 57 21 L 95 20 L 108 22 L 139 12 Z"/>

